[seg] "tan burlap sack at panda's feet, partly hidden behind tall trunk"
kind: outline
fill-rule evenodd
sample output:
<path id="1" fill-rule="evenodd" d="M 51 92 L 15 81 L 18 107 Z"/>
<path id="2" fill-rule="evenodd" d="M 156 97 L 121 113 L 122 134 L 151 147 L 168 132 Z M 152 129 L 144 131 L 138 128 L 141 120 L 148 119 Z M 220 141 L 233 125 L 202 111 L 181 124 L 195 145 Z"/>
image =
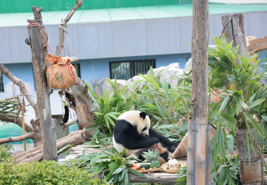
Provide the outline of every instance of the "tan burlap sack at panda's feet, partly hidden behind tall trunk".
<path id="1" fill-rule="evenodd" d="M 214 128 L 210 127 L 210 139 L 213 136 L 215 136 L 215 132 L 216 132 L 216 130 Z M 186 133 L 186 135 L 184 135 L 181 143 L 178 145 L 178 147 L 172 153 L 172 156 L 174 158 L 181 158 L 181 157 L 187 156 L 187 133 Z"/>

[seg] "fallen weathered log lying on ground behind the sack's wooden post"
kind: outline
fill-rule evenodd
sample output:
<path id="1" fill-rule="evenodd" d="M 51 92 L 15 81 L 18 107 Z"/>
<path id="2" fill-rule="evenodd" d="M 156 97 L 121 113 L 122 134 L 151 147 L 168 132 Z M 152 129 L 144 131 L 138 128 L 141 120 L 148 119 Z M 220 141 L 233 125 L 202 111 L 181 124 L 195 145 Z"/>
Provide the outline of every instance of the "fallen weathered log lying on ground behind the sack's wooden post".
<path id="1" fill-rule="evenodd" d="M 83 129 L 74 131 L 68 136 L 57 140 L 57 151 L 69 144 L 71 145 L 83 144 L 85 143 L 86 140 L 89 140 L 90 137 L 92 137 L 92 134 L 93 130 L 85 131 L 85 129 Z M 40 161 L 43 159 L 43 156 L 44 156 L 43 147 L 42 145 L 39 145 L 38 147 L 32 148 L 28 151 L 16 155 L 15 161 L 17 163 Z"/>

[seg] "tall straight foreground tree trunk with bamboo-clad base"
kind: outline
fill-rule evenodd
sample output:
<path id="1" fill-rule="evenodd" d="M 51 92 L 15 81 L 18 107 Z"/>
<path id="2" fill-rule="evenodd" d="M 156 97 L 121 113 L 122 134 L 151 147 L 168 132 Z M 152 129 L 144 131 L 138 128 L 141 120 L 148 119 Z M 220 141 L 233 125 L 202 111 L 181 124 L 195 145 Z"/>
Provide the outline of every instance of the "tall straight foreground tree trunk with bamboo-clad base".
<path id="1" fill-rule="evenodd" d="M 193 0 L 192 34 L 192 121 L 188 147 L 195 148 L 195 155 L 189 155 L 193 166 L 187 167 L 187 184 L 210 184 L 210 140 L 208 125 L 208 45 L 209 45 L 209 1 Z M 195 139 L 193 141 L 193 138 Z M 198 142 L 202 140 L 203 142 Z M 191 143 L 193 142 L 193 143 Z M 204 149 L 205 148 L 205 149 Z M 203 150 L 204 149 L 204 150 Z M 188 150 L 188 153 L 190 151 Z M 190 169 L 191 168 L 191 169 Z"/>

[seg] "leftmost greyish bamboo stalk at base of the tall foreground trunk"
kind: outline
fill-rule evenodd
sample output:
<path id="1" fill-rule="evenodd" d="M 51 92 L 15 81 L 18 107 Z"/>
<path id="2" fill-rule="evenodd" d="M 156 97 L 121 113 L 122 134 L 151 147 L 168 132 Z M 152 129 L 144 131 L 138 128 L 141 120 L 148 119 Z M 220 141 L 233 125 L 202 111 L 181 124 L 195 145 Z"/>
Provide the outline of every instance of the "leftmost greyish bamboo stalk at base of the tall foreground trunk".
<path id="1" fill-rule="evenodd" d="M 188 120 L 187 184 L 195 183 L 195 121 Z"/>

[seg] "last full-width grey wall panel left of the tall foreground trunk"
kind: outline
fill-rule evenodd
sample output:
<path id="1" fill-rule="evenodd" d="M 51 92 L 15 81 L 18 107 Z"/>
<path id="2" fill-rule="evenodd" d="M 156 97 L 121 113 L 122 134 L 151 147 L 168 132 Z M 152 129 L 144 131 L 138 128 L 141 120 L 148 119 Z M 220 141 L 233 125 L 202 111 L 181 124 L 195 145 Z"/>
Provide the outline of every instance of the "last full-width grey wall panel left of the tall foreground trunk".
<path id="1" fill-rule="evenodd" d="M 147 55 L 181 53 L 179 19 L 146 22 Z"/>

